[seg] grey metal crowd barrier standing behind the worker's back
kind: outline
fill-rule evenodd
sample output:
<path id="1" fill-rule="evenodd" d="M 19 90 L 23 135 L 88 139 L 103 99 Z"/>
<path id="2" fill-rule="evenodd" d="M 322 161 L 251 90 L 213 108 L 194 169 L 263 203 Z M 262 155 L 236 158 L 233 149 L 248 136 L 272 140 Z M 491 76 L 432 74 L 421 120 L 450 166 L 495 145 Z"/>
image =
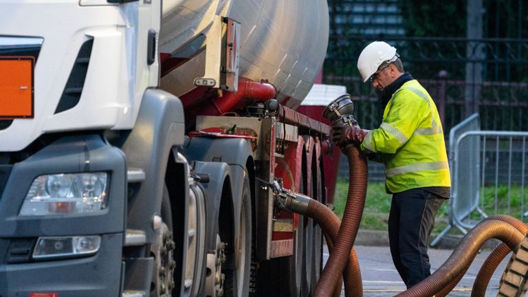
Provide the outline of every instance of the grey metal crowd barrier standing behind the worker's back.
<path id="1" fill-rule="evenodd" d="M 448 225 L 464 234 L 489 214 L 509 214 L 527 221 L 525 184 L 528 132 L 481 131 L 474 114 L 450 131 L 452 177 Z"/>

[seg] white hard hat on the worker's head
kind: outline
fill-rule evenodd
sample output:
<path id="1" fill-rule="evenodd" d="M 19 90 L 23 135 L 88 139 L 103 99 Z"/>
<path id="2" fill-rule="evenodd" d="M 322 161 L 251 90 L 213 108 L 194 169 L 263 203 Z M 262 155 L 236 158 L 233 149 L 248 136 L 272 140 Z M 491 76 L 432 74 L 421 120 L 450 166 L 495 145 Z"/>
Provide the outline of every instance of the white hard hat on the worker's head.
<path id="1" fill-rule="evenodd" d="M 394 62 L 398 58 L 396 47 L 383 41 L 374 41 L 367 45 L 358 58 L 358 70 L 366 83 L 377 72 L 377 68 L 384 62 Z"/>

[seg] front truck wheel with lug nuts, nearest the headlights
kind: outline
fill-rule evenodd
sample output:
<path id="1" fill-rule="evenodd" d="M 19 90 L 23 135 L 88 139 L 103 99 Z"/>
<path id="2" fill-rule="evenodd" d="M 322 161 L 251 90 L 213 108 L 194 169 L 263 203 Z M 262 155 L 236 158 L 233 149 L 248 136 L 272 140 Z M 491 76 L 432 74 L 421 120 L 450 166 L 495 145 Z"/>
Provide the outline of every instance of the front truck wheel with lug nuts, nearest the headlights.
<path id="1" fill-rule="evenodd" d="M 171 292 L 175 287 L 173 217 L 170 213 L 170 199 L 166 186 L 163 189 L 161 218 L 159 225 L 155 226 L 156 241 L 151 245 L 151 254 L 154 256 L 151 297 L 172 296 Z"/>

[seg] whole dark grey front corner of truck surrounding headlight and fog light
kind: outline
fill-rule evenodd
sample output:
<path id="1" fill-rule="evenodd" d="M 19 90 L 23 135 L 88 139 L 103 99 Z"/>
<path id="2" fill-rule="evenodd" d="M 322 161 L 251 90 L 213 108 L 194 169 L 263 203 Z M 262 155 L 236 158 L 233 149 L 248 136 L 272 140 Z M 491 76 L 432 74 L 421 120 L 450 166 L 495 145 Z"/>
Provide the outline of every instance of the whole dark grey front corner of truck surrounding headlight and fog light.
<path id="1" fill-rule="evenodd" d="M 39 175 L 84 172 L 105 172 L 109 176 L 104 210 L 19 214 L 32 181 Z M 0 296 L 120 296 L 126 210 L 122 151 L 104 142 L 100 135 L 63 137 L 22 162 L 0 166 L 2 175 Z M 40 237 L 94 235 L 101 239 L 96 254 L 45 261 L 32 257 Z"/>

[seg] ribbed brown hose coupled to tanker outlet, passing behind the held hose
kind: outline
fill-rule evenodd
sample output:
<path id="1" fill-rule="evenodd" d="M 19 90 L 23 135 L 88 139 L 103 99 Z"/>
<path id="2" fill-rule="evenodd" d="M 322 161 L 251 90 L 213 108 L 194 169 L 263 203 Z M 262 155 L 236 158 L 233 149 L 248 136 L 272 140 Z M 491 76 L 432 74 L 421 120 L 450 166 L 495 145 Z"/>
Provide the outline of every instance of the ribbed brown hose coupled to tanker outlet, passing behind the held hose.
<path id="1" fill-rule="evenodd" d="M 333 243 L 338 237 L 339 227 L 341 221 L 338 216 L 334 214 L 327 206 L 318 202 L 315 199 L 310 199 L 306 215 L 315 219 L 321 226 L 322 230 L 325 230 L 325 234 L 328 235 L 327 244 L 332 254 L 334 252 Z M 355 250 L 352 248 L 349 253 L 349 259 L 347 261 L 347 267 L 343 272 L 344 276 L 344 294 L 345 296 L 363 296 L 363 286 L 361 281 L 360 263 L 358 256 L 355 254 Z M 332 288 L 339 289 L 341 292 L 341 280 L 338 279 L 338 283 Z M 334 289 L 334 292 L 336 292 Z M 329 291 L 325 291 L 329 292 Z"/>

